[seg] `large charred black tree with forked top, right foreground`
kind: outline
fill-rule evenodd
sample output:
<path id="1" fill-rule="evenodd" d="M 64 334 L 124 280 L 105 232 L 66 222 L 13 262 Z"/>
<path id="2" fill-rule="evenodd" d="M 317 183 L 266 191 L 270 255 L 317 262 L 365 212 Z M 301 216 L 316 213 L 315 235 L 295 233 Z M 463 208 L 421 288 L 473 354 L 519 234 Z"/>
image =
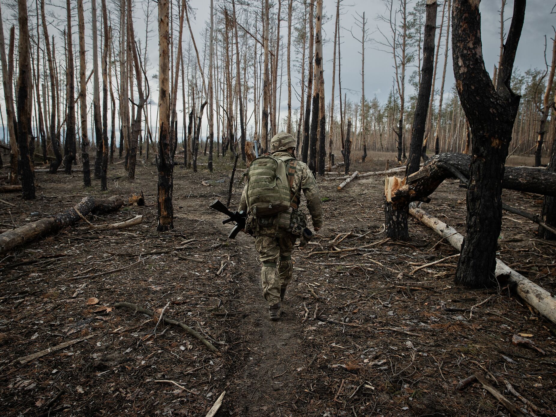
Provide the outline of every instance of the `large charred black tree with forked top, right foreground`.
<path id="1" fill-rule="evenodd" d="M 496 282 L 496 250 L 502 227 L 502 179 L 520 100 L 510 88 L 510 78 L 524 16 L 525 0 L 515 0 L 495 89 L 483 61 L 479 2 L 454 0 L 454 76 L 473 137 L 466 237 L 456 270 L 456 284 L 487 287 Z"/>

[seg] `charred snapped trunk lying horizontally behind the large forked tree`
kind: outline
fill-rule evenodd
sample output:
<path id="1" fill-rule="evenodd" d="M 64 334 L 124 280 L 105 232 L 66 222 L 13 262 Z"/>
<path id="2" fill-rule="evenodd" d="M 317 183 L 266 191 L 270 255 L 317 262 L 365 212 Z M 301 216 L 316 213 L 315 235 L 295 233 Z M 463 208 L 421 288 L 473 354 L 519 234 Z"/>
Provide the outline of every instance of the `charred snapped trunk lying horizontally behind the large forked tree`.
<path id="1" fill-rule="evenodd" d="M 439 153 L 426 161 L 423 168 L 411 174 L 404 187 L 392 196 L 396 207 L 411 201 L 426 201 L 446 179 L 454 176 L 450 167 L 469 178 L 471 156 L 463 153 Z M 502 187 L 507 190 L 532 192 L 540 195 L 556 196 L 556 173 L 531 168 L 506 167 Z"/>

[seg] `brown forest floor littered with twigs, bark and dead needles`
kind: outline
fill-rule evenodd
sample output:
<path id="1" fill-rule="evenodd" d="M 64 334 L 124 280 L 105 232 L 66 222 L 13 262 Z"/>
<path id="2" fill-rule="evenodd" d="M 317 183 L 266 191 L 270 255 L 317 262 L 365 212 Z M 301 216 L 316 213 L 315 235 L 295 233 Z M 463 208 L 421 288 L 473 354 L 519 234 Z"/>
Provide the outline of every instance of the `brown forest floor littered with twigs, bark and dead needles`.
<path id="1" fill-rule="evenodd" d="M 308 249 L 294 252 L 285 312 L 269 321 L 252 237 L 227 240 L 231 226 L 208 208 L 227 197 L 230 160 L 215 165 L 214 173 L 176 166 L 175 229 L 165 233 L 156 231 L 150 162 L 137 167 L 133 182 L 123 163 L 110 165 L 104 193 L 98 180 L 83 189 L 81 172 L 41 172 L 36 200 L 0 195 L 0 229 L 55 214 L 87 195 L 127 201 L 143 191 L 146 201 L 87 216 L 100 225 L 140 214 L 141 225 L 97 231 L 81 222 L 0 258 L 0 414 L 205 416 L 226 391 L 217 416 L 509 415 L 478 383 L 456 390 L 481 372 L 530 415 L 556 415 L 555 327 L 504 283 L 494 290 L 455 286 L 456 258 L 411 274 L 456 251 L 414 219 L 411 242 L 384 239 L 382 177 L 343 191 L 336 190 L 339 181 L 319 178 L 325 226 Z M 384 166 L 384 159 L 369 157 L 353 168 Z M 232 207 L 240 192 L 236 182 Z M 445 181 L 431 197 L 422 208 L 465 232 L 458 182 Z M 540 211 L 540 196 L 503 197 Z M 504 212 L 499 257 L 554 294 L 556 244 L 538 240 L 535 226 Z M 337 236 L 337 249 L 353 249 L 332 252 Z M 157 314 L 114 307 L 122 301 Z M 161 324 L 154 335 L 167 303 L 163 316 L 202 332 L 219 352 L 179 327 Z M 543 353 L 513 345 L 518 334 Z M 85 337 L 28 363 L 18 360 Z"/>

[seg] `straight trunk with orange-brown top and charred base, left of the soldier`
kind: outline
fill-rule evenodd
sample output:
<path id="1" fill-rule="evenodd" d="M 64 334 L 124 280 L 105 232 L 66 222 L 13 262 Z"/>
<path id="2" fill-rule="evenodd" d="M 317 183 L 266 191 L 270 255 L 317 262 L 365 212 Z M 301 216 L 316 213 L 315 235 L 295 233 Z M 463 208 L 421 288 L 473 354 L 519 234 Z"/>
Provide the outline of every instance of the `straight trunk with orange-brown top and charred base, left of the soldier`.
<path id="1" fill-rule="evenodd" d="M 170 137 L 170 53 L 168 0 L 158 0 L 158 231 L 173 229 L 173 158 Z"/>

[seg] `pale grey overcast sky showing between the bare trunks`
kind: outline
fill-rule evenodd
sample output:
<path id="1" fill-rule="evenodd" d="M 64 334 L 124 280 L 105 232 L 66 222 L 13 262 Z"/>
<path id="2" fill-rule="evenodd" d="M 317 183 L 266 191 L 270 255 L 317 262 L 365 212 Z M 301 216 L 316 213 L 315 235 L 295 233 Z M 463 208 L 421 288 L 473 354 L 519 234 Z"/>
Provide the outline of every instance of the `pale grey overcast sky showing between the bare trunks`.
<path id="1" fill-rule="evenodd" d="M 75 6 L 74 0 L 71 0 L 72 4 Z M 148 27 L 151 30 L 151 38 L 148 41 L 148 56 L 150 60 L 150 69 L 148 71 L 148 76 L 150 79 L 151 86 L 151 98 L 153 101 L 152 115 L 156 115 L 156 102 L 158 100 L 158 86 L 157 80 L 153 78 L 156 76 L 158 71 L 158 39 L 157 39 L 157 26 L 156 26 L 156 15 L 157 15 L 157 4 L 153 0 L 150 0 L 151 8 L 151 18 Z M 260 4 L 260 0 L 248 0 L 251 4 Z M 394 0 L 394 3 L 400 0 Z M 408 0 L 408 10 L 413 9 L 416 0 Z M 480 4 L 481 11 L 481 26 L 482 26 L 482 41 L 483 41 L 483 56 L 485 59 L 486 69 L 492 73 L 494 64 L 498 62 L 499 56 L 499 46 L 500 46 L 500 3 L 502 0 L 483 0 Z M 110 3 L 110 0 L 108 0 Z M 216 4 L 219 4 L 220 0 L 215 0 Z M 239 3 L 239 0 L 236 0 Z M 61 33 L 61 28 L 66 23 L 65 17 L 65 2 L 63 0 L 53 0 L 53 3 L 59 3 L 59 6 L 48 6 L 47 12 L 49 14 L 48 21 L 49 32 L 54 34 L 54 36 L 59 36 Z M 100 20 L 100 0 L 97 0 L 98 8 L 98 19 Z M 272 3 L 272 0 L 271 0 Z M 275 2 L 275 8 L 276 6 Z M 282 23 L 281 23 L 281 36 L 282 42 L 287 41 L 287 0 L 282 0 Z M 525 12 L 525 22 L 523 27 L 522 36 L 519 42 L 517 56 L 515 59 L 515 66 L 524 72 L 529 68 L 544 68 L 544 39 L 545 36 L 548 38 L 549 46 L 547 48 L 547 53 L 550 54 L 552 51 L 551 38 L 554 35 L 553 25 L 556 26 L 556 13 L 551 13 L 554 7 L 554 0 L 529 0 L 527 3 L 527 9 Z M 90 1 L 85 1 L 85 19 L 86 25 L 86 42 L 87 47 L 91 47 L 91 7 Z M 135 21 L 135 33 L 136 39 L 141 40 L 141 44 L 144 44 L 145 38 L 145 17 L 144 11 L 146 9 L 146 0 L 136 0 L 135 11 L 134 11 L 134 21 Z M 191 17 L 192 31 L 195 36 L 197 47 L 202 53 L 203 47 L 203 32 L 207 23 L 210 22 L 210 1 L 209 0 L 190 0 L 190 4 L 196 9 L 195 16 Z M 6 39 L 8 35 L 8 29 L 11 23 L 16 24 L 17 20 L 9 21 L 9 9 L 7 4 L 2 2 L 2 12 L 4 18 L 4 31 Z M 34 21 L 34 1 L 29 1 L 29 19 Z M 238 6 L 239 7 L 239 6 Z M 302 0 L 294 0 L 294 7 L 303 7 Z M 324 37 L 324 47 L 323 47 L 323 62 L 324 62 L 324 76 L 325 76 L 325 101 L 329 103 L 331 95 L 331 78 L 332 78 L 332 54 L 333 54 L 333 42 L 334 37 L 334 17 L 336 12 L 336 0 L 324 0 L 324 13 L 327 19 L 324 19 L 324 24 L 322 25 L 322 32 Z M 440 24 L 442 6 L 440 4 L 438 9 L 437 25 Z M 509 28 L 511 16 L 513 10 L 513 1 L 508 0 L 505 6 L 505 32 Z M 388 27 L 384 22 L 381 22 L 378 18 L 379 15 L 384 15 L 387 9 L 384 0 L 342 0 L 341 2 L 341 56 L 342 56 L 342 90 L 347 94 L 347 97 L 358 102 L 361 100 L 361 44 L 359 41 L 353 38 L 351 32 L 355 36 L 360 36 L 360 29 L 356 26 L 356 19 L 358 19 L 357 14 L 362 15 L 365 13 L 365 18 L 367 19 L 366 26 L 369 29 L 369 41 L 365 44 L 365 96 L 367 100 L 372 100 L 374 96 L 378 100 L 384 103 L 391 91 L 393 86 L 393 57 L 391 52 L 384 52 L 381 49 L 384 47 L 380 46 L 381 34 L 388 32 Z M 73 22 L 75 27 L 73 28 L 75 44 L 77 46 L 77 13 L 76 9 L 73 10 Z M 111 13 L 112 24 L 117 25 L 119 16 L 117 13 Z M 295 24 L 295 21 L 294 21 Z M 443 30 L 443 37 L 445 37 L 445 25 Z M 438 29 L 436 32 L 438 37 Z M 185 24 L 183 31 L 183 44 L 186 45 L 190 39 L 190 34 L 187 30 L 187 24 Z M 60 45 L 61 40 L 57 42 Z M 99 40 L 100 43 L 100 40 Z M 77 53 L 77 47 L 75 50 Z M 294 48 L 292 48 L 292 54 L 294 53 Z M 87 72 L 90 71 L 91 64 L 91 52 L 87 52 Z M 100 54 L 99 54 L 100 55 Z M 440 49 L 439 54 L 439 69 L 437 73 L 437 83 L 436 88 L 440 86 L 441 77 L 441 66 L 443 65 L 444 57 L 444 42 Z M 550 61 L 550 56 L 547 57 Z M 292 65 L 293 67 L 293 65 Z M 409 68 L 407 74 L 407 80 L 409 81 L 409 76 L 411 72 L 415 71 L 416 67 Z M 280 72 L 280 68 L 279 68 Z M 17 75 L 16 75 L 17 76 Z M 299 73 L 296 73 L 295 69 L 292 68 L 292 84 L 299 91 Z M 283 84 L 281 92 L 281 102 L 280 102 L 280 117 L 285 117 L 287 112 L 287 77 L 286 68 L 283 68 Z M 451 54 L 448 57 L 448 67 L 446 69 L 446 86 L 445 95 L 451 91 L 451 87 L 454 83 L 453 69 L 451 65 Z M 92 98 L 92 83 L 88 85 L 88 96 L 89 100 Z M 181 85 L 181 82 L 180 82 Z M 292 88 L 294 88 L 292 87 Z M 409 86 L 406 87 L 406 97 L 415 93 L 413 89 Z M 335 88 L 335 103 L 336 108 L 339 104 L 339 91 L 337 82 L 337 71 L 336 71 L 336 88 Z M 181 92 L 178 92 L 181 96 Z M 437 98 L 438 100 L 438 98 Z M 2 102 L 2 107 L 4 103 Z M 182 111 L 181 100 L 177 102 L 178 112 Z M 299 108 L 299 100 L 294 94 L 292 94 L 292 109 Z M 247 114 L 250 115 L 252 108 L 247 108 Z M 3 111 L 5 114 L 5 111 Z M 181 117 L 178 116 L 178 128 L 182 130 Z M 252 123 L 252 122 L 251 122 Z M 206 118 L 203 120 L 203 125 L 206 125 Z M 153 126 L 154 127 L 154 126 Z M 202 128 L 202 136 L 206 132 L 206 126 Z"/>

